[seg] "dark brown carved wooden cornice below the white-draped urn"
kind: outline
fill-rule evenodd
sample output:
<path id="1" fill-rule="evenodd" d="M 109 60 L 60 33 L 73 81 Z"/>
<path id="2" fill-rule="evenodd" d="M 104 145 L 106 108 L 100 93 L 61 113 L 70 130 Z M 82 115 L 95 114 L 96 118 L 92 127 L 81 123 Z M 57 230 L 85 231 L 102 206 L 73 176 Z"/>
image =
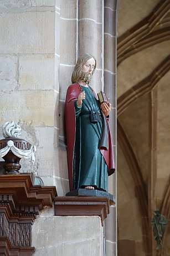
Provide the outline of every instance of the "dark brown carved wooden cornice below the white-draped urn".
<path id="1" fill-rule="evenodd" d="M 56 195 L 55 186 L 35 186 L 28 174 L 0 176 L 0 254 L 33 254 L 33 221 Z"/>

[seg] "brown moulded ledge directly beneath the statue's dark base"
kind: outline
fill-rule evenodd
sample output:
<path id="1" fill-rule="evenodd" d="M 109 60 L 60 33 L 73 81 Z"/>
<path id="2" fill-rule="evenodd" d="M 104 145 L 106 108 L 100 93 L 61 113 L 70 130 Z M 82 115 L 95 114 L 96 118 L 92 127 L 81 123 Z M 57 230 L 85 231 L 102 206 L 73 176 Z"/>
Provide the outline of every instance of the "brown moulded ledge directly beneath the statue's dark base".
<path id="1" fill-rule="evenodd" d="M 101 223 L 109 214 L 110 200 L 105 196 L 58 196 L 55 216 L 100 216 Z"/>

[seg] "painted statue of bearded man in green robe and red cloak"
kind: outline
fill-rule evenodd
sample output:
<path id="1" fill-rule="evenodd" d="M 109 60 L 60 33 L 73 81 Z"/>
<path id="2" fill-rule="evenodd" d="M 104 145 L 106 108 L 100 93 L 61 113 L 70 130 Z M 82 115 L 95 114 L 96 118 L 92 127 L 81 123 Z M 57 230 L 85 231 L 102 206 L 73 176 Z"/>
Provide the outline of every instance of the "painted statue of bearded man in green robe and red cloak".
<path id="1" fill-rule="evenodd" d="M 108 175 L 115 171 L 109 129 L 111 104 L 101 106 L 89 86 L 96 58 L 89 53 L 78 58 L 72 85 L 65 100 L 66 139 L 70 191 L 85 188 L 108 190 Z"/>

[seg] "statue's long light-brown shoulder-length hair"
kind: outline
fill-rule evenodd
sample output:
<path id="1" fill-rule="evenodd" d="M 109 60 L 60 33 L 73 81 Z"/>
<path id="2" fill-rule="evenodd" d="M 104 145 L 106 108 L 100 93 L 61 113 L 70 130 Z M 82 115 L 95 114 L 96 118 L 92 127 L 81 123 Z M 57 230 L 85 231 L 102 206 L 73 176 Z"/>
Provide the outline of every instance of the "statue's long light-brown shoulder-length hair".
<path id="1" fill-rule="evenodd" d="M 80 80 L 81 77 L 81 71 L 83 68 L 83 65 L 86 63 L 87 60 L 89 60 L 90 58 L 94 58 L 95 60 L 95 66 L 94 66 L 94 70 L 92 71 L 92 75 L 94 74 L 95 70 L 96 70 L 96 58 L 94 56 L 92 56 L 89 53 L 85 53 L 84 55 L 81 55 L 75 65 L 73 74 L 71 76 L 71 82 L 72 83 L 76 83 Z"/>

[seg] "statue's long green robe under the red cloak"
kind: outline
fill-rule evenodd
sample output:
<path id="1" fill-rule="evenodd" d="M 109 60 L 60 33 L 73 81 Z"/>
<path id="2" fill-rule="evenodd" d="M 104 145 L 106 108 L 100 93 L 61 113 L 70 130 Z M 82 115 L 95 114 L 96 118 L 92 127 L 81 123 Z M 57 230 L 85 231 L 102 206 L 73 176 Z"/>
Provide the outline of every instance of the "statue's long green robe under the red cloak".
<path id="1" fill-rule="evenodd" d="M 108 173 L 104 157 L 99 150 L 102 134 L 102 118 L 95 124 L 90 122 L 90 114 L 82 115 L 87 111 L 100 111 L 100 104 L 94 97 L 90 87 L 82 86 L 86 97 L 82 106 L 77 106 L 76 114 L 76 139 L 74 150 L 75 173 L 73 176 L 74 189 L 84 186 L 94 186 L 95 189 L 108 190 Z M 81 115 L 80 115 L 81 113 Z"/>

